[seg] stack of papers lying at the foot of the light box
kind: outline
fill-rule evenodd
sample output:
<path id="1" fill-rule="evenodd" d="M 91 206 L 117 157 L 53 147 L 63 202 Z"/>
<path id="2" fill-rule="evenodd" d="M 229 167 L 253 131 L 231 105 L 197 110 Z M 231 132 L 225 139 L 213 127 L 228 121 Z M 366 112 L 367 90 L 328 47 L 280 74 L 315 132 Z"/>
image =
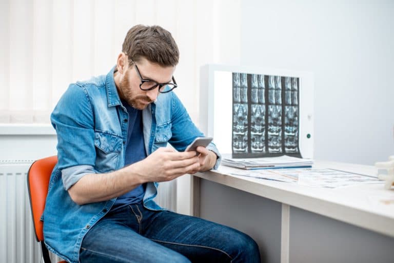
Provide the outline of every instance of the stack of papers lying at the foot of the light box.
<path id="1" fill-rule="evenodd" d="M 303 159 L 282 155 L 278 157 L 264 158 L 229 158 L 226 155 L 222 157 L 222 165 L 254 170 L 254 169 L 270 169 L 270 168 L 288 168 L 288 167 L 311 167 L 313 160 Z"/>

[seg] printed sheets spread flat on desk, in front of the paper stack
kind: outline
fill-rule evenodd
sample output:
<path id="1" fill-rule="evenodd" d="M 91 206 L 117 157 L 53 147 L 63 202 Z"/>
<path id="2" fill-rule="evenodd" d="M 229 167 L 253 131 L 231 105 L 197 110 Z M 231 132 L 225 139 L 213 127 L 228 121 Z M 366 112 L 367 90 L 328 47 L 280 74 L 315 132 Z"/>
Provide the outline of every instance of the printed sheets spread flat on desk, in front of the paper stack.
<path id="1" fill-rule="evenodd" d="M 235 170 L 235 169 L 234 169 Z M 384 184 L 377 177 L 333 169 L 284 168 L 266 170 L 242 170 L 228 172 L 229 175 L 260 178 L 317 188 L 338 188 L 359 184 Z"/>

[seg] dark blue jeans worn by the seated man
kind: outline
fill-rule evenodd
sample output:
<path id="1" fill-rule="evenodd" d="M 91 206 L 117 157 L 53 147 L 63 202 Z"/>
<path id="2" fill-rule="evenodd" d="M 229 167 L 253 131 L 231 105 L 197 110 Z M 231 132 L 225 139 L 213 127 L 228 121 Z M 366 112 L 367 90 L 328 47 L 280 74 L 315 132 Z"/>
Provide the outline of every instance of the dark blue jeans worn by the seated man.
<path id="1" fill-rule="evenodd" d="M 82 241 L 81 263 L 260 262 L 248 235 L 198 217 L 142 204 L 110 211 Z"/>

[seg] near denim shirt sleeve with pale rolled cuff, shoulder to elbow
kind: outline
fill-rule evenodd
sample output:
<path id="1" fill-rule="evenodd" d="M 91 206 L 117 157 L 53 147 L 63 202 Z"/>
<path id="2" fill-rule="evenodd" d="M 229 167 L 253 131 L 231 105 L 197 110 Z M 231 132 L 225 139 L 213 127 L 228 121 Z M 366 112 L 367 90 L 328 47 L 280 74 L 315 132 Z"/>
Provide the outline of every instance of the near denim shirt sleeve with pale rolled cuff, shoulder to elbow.
<path id="1" fill-rule="evenodd" d="M 57 134 L 58 168 L 68 190 L 82 176 L 95 173 L 94 116 L 84 87 L 71 84 L 51 114 Z"/>

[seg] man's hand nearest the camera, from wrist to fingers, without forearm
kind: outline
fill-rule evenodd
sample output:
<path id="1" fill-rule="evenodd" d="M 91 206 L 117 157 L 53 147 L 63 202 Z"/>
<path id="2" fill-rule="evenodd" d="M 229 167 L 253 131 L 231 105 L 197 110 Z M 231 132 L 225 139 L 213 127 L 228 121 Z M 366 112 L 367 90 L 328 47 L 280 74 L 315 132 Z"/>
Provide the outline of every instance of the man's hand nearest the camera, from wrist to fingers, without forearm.
<path id="1" fill-rule="evenodd" d="M 194 174 L 200 170 L 199 157 L 195 151 L 176 152 L 170 148 L 159 148 L 134 165 L 130 172 L 137 173 L 142 181 L 170 181 L 184 174 Z"/>

